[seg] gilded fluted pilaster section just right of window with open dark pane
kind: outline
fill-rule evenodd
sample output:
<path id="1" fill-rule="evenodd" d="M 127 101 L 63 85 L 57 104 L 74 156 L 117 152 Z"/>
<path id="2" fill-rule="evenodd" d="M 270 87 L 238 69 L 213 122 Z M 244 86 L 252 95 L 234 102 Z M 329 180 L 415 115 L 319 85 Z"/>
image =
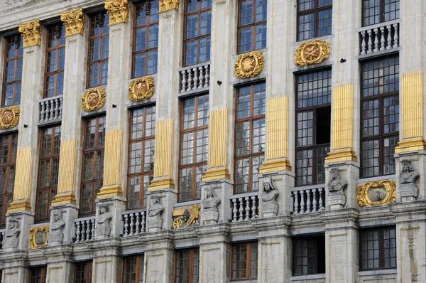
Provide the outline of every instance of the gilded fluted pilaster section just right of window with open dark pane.
<path id="1" fill-rule="evenodd" d="M 354 85 L 339 85 L 332 95 L 332 151 L 327 164 L 356 161 L 354 148 Z"/>

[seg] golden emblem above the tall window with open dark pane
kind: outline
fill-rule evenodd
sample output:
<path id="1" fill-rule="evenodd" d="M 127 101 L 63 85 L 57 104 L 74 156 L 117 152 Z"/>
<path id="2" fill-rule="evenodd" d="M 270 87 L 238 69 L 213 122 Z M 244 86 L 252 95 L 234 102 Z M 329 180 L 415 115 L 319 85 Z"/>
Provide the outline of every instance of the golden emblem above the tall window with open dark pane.
<path id="1" fill-rule="evenodd" d="M 295 51 L 297 66 L 322 63 L 329 58 L 330 43 L 327 41 L 310 41 L 303 43 Z"/>

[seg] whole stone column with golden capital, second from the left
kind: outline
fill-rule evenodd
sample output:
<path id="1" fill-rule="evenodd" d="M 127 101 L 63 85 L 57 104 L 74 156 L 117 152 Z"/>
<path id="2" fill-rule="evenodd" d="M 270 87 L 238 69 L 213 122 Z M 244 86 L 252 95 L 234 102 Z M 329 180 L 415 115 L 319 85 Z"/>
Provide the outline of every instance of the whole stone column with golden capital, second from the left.
<path id="1" fill-rule="evenodd" d="M 52 201 L 50 221 L 59 215 L 64 222 L 62 244 L 72 243 L 74 220 L 78 216 L 82 161 L 81 93 L 85 88 L 88 27 L 84 28 L 83 9 L 60 13 L 65 26 L 64 95 L 59 158 L 58 193 Z M 57 216 L 58 217 L 58 216 Z M 49 245 L 60 245 L 50 241 Z M 58 269 L 59 270 L 59 269 Z M 57 271 L 58 271 L 57 270 Z M 64 269 L 65 270 L 65 269 Z"/>

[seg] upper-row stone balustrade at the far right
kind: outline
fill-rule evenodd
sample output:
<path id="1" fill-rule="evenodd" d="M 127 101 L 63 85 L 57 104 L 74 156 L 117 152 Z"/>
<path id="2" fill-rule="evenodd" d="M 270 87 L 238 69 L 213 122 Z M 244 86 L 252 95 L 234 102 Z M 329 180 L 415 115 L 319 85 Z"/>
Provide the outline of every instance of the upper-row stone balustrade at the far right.
<path id="1" fill-rule="evenodd" d="M 359 29 L 361 55 L 399 47 L 399 20 L 378 23 Z"/>

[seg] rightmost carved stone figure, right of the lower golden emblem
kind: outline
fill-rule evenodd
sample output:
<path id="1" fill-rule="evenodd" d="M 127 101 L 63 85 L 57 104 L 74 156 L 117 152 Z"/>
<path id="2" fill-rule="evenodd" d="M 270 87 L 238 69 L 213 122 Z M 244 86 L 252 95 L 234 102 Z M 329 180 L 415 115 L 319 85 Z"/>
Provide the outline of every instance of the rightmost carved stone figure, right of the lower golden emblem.
<path id="1" fill-rule="evenodd" d="M 400 172 L 400 187 L 398 188 L 401 194 L 401 200 L 414 201 L 419 192 L 415 184 L 415 181 L 419 178 L 419 172 L 413 168 L 410 160 L 403 159 L 401 164 L 403 168 Z"/>

